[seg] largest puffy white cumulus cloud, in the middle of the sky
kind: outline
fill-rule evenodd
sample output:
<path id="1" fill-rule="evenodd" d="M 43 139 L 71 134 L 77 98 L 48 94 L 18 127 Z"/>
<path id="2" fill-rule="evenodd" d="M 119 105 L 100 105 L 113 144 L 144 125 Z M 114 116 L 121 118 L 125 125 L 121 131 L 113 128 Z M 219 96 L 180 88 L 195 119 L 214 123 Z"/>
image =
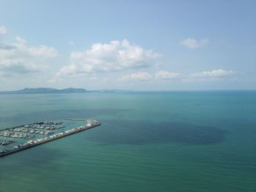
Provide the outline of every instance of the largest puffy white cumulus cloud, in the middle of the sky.
<path id="1" fill-rule="evenodd" d="M 72 52 L 69 66 L 64 66 L 56 77 L 148 68 L 153 66 L 159 57 L 158 53 L 144 50 L 127 39 L 107 44 L 96 43 L 89 50 Z"/>

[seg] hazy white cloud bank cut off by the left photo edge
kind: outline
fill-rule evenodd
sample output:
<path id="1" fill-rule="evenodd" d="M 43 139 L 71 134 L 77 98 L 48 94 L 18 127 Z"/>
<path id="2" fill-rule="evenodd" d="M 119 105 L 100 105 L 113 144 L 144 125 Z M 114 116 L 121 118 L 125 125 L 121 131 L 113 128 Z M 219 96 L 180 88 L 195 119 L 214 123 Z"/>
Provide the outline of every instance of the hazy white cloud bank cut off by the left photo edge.
<path id="1" fill-rule="evenodd" d="M 10 44 L 0 42 L 1 73 L 24 74 L 48 69 L 45 64 L 39 64 L 44 58 L 54 58 L 57 50 L 45 45 L 30 47 L 25 39 L 16 37 Z"/>

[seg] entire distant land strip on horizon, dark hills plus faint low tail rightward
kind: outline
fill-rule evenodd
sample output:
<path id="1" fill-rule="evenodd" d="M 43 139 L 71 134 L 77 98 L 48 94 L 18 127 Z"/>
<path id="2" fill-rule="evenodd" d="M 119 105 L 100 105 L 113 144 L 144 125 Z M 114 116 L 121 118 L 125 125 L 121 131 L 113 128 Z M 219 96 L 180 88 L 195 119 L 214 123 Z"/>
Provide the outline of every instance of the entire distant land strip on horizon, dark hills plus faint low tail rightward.
<path id="1" fill-rule="evenodd" d="M 48 94 L 48 93 L 91 93 L 91 92 L 99 92 L 99 93 L 110 93 L 110 92 L 132 92 L 129 90 L 118 90 L 118 89 L 106 89 L 106 90 L 97 90 L 97 91 L 87 91 L 84 88 L 64 88 L 64 89 L 56 89 L 56 88 L 23 88 L 18 91 L 0 91 L 0 94 Z"/>

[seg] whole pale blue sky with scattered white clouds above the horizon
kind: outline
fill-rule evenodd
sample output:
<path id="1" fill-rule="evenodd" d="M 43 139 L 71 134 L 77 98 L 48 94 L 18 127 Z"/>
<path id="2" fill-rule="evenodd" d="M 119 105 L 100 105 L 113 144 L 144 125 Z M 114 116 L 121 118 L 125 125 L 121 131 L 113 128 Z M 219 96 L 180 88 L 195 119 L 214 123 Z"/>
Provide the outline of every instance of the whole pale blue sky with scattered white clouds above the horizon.
<path id="1" fill-rule="evenodd" d="M 255 9 L 254 0 L 0 0 L 0 90 L 255 90 Z"/>

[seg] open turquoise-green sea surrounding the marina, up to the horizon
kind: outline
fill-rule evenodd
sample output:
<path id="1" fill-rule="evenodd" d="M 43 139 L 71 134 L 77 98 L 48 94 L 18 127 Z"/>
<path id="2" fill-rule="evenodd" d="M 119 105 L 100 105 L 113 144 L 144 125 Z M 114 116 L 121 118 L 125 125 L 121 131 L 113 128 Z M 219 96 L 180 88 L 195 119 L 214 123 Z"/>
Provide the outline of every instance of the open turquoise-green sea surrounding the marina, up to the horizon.
<path id="1" fill-rule="evenodd" d="M 0 128 L 64 118 L 102 125 L 0 158 L 0 191 L 256 191 L 255 91 L 0 95 Z"/>

